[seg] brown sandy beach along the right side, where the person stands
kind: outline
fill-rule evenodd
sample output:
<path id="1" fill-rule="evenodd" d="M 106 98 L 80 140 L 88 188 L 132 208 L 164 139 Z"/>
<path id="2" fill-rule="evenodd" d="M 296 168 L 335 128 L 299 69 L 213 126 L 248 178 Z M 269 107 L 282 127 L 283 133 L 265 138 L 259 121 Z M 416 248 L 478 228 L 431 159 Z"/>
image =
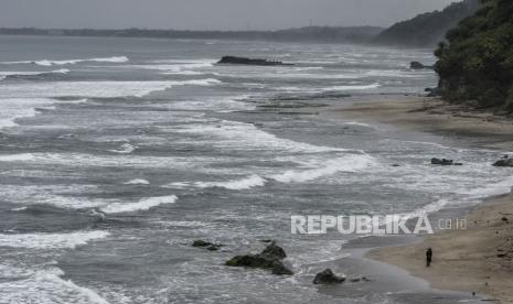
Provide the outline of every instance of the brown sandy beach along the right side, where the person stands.
<path id="1" fill-rule="evenodd" d="M 362 101 L 330 107 L 323 115 L 383 124 L 393 131 L 427 132 L 461 139 L 464 144 L 513 151 L 513 119 L 447 105 L 435 98 Z M 512 169 L 498 169 L 511 170 Z M 513 303 L 513 193 L 461 210 L 467 229 L 440 230 L 407 245 L 385 245 L 364 254 L 426 280 L 432 289 L 487 294 L 496 303 Z M 432 248 L 430 268 L 426 248 Z"/>

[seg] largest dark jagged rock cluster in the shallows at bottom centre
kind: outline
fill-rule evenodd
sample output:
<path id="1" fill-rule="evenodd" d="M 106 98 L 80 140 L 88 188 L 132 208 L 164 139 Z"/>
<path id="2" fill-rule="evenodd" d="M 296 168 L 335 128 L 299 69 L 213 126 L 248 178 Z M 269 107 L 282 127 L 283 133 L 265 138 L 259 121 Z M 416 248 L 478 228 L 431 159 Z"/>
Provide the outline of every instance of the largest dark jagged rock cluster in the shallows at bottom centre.
<path id="1" fill-rule="evenodd" d="M 258 254 L 236 256 L 226 261 L 229 267 L 247 267 L 271 269 L 272 274 L 284 275 L 293 274 L 293 272 L 284 265 L 284 259 L 287 258 L 285 250 L 271 242 Z"/>

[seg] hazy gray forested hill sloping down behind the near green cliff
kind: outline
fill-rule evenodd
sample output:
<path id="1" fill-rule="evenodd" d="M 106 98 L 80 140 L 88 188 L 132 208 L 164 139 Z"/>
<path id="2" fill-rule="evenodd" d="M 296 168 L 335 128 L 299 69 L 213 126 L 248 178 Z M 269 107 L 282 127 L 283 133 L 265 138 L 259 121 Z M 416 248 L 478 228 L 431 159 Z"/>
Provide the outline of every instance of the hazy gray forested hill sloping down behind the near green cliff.
<path id="1" fill-rule="evenodd" d="M 464 0 L 452 3 L 442 11 L 419 14 L 392 25 L 383 31 L 375 42 L 405 46 L 435 46 L 443 40 L 448 30 L 472 15 L 479 6 L 479 0 Z"/>

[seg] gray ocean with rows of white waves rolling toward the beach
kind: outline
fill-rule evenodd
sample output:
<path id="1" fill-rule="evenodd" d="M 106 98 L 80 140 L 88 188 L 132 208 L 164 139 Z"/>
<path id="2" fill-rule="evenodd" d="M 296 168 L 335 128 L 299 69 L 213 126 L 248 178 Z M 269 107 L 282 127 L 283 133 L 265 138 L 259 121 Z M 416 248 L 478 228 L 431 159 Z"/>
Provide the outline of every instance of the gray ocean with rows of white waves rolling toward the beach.
<path id="1" fill-rule="evenodd" d="M 223 55 L 295 65 L 215 65 Z M 292 215 L 416 215 L 509 192 L 511 174 L 490 165 L 501 151 L 303 111 L 435 87 L 435 72 L 412 61 L 435 57 L 0 36 L 0 303 L 414 303 L 319 292 L 313 275 L 344 272 L 344 245 L 362 236 L 290 232 Z M 211 252 L 196 239 L 225 246 Z M 224 265 L 266 239 L 295 275 Z"/>

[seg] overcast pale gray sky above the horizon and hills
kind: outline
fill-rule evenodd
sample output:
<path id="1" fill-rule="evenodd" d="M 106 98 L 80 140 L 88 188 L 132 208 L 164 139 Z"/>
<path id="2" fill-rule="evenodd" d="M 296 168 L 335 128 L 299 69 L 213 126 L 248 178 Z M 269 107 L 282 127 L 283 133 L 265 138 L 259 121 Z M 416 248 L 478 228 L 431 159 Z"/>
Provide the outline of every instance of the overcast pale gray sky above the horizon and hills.
<path id="1" fill-rule="evenodd" d="M 0 0 L 0 26 L 272 30 L 381 25 L 458 0 Z"/>

